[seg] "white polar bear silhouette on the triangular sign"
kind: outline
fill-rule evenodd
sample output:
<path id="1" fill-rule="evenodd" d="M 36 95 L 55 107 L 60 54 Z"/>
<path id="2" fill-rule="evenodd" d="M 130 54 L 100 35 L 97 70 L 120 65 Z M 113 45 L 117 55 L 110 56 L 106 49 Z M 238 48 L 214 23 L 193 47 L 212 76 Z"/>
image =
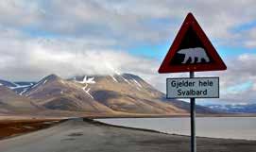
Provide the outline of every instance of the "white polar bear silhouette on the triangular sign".
<path id="1" fill-rule="evenodd" d="M 177 53 L 185 55 L 184 60 L 181 62 L 182 64 L 185 64 L 188 59 L 191 59 L 190 63 L 195 63 L 196 58 L 196 63 L 200 63 L 202 59 L 206 62 L 210 61 L 205 50 L 201 47 L 180 49 Z"/>

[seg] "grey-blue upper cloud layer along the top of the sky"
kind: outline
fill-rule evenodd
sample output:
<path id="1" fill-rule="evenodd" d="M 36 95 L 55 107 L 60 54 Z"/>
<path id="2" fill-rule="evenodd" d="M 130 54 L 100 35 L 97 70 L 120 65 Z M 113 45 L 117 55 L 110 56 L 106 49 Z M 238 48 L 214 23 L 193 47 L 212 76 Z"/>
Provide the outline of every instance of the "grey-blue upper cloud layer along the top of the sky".
<path id="1" fill-rule="evenodd" d="M 253 0 L 27 2 L 1 2 L 1 24 L 22 28 L 35 35 L 43 32 L 44 35 L 66 38 L 102 38 L 117 42 L 115 45 L 127 47 L 139 43 L 157 44 L 173 39 L 188 11 L 194 12 L 207 35 L 219 44 L 240 43 L 241 36 L 233 29 L 256 18 L 256 4 Z M 248 41 L 246 45 L 254 47 L 253 42 Z"/>

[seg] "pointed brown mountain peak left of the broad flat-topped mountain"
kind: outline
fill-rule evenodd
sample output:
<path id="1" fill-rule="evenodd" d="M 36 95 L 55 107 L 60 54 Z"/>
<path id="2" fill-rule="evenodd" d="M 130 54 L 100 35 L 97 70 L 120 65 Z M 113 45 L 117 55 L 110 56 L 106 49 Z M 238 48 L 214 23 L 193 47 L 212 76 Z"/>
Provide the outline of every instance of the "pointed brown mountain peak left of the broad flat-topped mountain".
<path id="1" fill-rule="evenodd" d="M 49 110 L 71 110 L 86 112 L 111 112 L 108 107 L 95 102 L 73 81 L 67 81 L 60 76 L 44 77 L 25 94 L 27 98 L 35 100 L 37 104 Z"/>

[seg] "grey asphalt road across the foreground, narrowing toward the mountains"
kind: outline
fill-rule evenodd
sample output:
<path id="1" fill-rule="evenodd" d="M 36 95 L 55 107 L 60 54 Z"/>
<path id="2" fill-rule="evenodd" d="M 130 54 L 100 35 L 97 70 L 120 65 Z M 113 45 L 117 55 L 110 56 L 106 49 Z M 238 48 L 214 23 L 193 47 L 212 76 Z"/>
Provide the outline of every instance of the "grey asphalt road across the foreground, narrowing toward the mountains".
<path id="1" fill-rule="evenodd" d="M 189 137 L 82 119 L 0 141 L 1 152 L 189 152 Z M 254 152 L 256 141 L 197 138 L 198 152 Z"/>

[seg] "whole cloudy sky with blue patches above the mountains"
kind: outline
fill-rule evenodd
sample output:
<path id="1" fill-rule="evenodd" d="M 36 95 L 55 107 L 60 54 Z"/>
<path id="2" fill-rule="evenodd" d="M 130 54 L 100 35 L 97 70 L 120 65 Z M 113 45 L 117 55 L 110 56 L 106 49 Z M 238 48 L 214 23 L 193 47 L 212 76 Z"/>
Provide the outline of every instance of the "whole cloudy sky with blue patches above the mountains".
<path id="1" fill-rule="evenodd" d="M 220 98 L 206 103 L 255 103 L 255 0 L 5 0 L 0 1 L 0 79 L 37 81 L 50 74 L 131 73 L 162 91 L 158 74 L 186 14 L 192 12 L 228 70 Z"/>

